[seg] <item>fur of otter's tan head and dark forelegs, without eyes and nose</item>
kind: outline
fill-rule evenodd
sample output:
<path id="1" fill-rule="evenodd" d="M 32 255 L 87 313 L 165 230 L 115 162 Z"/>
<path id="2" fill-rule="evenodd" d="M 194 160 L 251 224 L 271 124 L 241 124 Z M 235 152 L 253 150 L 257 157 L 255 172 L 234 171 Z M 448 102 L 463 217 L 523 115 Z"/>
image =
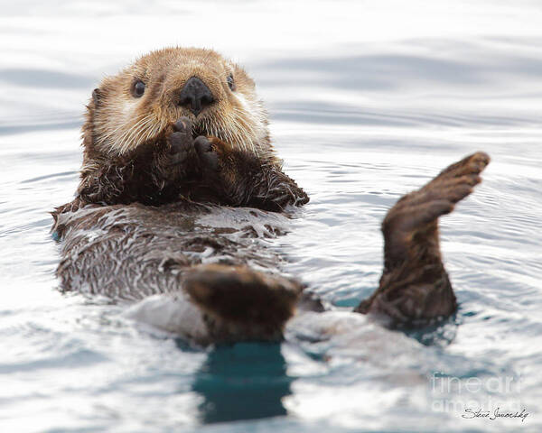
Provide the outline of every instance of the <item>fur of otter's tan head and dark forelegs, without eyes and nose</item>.
<path id="1" fill-rule="evenodd" d="M 197 116 L 179 104 L 192 77 L 201 78 L 214 97 Z M 137 80 L 145 83 L 142 97 L 132 94 Z M 55 217 L 89 203 L 160 206 L 180 197 L 269 210 L 308 201 L 282 171 L 253 80 L 215 51 L 153 51 L 105 78 L 87 108 L 76 198 L 59 207 Z M 189 130 L 185 137 L 175 128 L 179 119 Z M 220 171 L 206 170 L 198 158 L 192 146 L 198 135 L 212 141 L 214 152 L 230 155 L 220 160 Z"/>

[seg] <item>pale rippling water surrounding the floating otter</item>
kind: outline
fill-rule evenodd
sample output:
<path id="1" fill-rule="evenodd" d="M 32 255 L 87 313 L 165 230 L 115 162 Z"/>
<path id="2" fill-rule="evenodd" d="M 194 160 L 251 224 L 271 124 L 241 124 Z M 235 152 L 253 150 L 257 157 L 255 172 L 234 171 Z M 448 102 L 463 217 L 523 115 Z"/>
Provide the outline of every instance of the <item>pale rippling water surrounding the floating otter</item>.
<path id="1" fill-rule="evenodd" d="M 537 2 L 2 9 L 2 431 L 540 431 Z M 197 351 L 107 299 L 56 290 L 48 211 L 76 188 L 90 91 L 172 44 L 213 47 L 256 78 L 286 170 L 312 197 L 269 243 L 339 316 L 378 284 L 386 209 L 463 155 L 489 152 L 483 184 L 442 220 L 456 317 L 409 336 L 360 317 L 318 344 Z M 529 415 L 462 418 L 480 406 Z"/>

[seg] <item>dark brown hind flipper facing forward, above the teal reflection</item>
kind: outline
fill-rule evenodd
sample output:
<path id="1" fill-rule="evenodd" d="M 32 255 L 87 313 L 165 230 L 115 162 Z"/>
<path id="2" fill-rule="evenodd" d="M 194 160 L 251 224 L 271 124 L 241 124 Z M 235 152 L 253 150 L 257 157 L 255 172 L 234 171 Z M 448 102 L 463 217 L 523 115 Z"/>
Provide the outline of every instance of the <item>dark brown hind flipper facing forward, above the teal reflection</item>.
<path id="1" fill-rule="evenodd" d="M 192 268 L 182 288 L 206 314 L 215 341 L 281 339 L 303 290 L 294 280 L 220 264 Z"/>

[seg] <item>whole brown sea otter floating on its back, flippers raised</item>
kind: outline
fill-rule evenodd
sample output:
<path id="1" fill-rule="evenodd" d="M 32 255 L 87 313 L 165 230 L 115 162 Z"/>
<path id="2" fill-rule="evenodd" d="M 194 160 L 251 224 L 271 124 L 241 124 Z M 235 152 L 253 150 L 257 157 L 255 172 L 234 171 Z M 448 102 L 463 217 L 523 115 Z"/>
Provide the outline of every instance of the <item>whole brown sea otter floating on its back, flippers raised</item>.
<path id="1" fill-rule="evenodd" d="M 280 339 L 296 309 L 322 309 L 258 242 L 309 198 L 283 172 L 243 69 L 215 51 L 154 51 L 105 78 L 87 108 L 79 188 L 53 212 L 62 290 L 165 294 L 157 314 L 173 306 L 171 330 L 201 345 Z M 355 313 L 389 326 L 453 314 L 437 220 L 488 163 L 474 153 L 388 211 L 379 287 Z"/>

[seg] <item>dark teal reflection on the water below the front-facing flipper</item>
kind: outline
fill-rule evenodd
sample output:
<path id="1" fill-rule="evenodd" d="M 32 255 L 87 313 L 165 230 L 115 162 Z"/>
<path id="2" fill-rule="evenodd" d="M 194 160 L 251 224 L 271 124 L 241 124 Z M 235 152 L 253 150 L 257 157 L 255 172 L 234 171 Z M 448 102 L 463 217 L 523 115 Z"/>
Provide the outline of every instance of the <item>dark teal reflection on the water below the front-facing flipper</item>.
<path id="1" fill-rule="evenodd" d="M 203 397 L 202 423 L 285 415 L 293 378 L 280 345 L 241 343 L 213 349 L 196 373 L 192 391 Z"/>

